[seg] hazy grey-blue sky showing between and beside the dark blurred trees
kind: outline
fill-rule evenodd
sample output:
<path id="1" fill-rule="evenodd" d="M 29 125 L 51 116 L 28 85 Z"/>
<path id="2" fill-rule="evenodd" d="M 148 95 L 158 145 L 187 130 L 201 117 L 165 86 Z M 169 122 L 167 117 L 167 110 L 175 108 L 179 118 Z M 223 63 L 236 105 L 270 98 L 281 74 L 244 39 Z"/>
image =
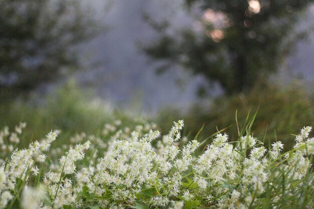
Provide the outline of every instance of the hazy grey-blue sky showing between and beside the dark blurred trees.
<path id="1" fill-rule="evenodd" d="M 153 63 L 140 53 L 137 41 L 149 41 L 155 36 L 151 28 L 142 19 L 146 12 L 160 20 L 171 17 L 174 22 L 188 24 L 189 19 L 180 8 L 180 1 L 115 0 L 104 22 L 109 31 L 85 47 L 87 62 L 100 60 L 103 64 L 80 74 L 85 85 L 95 86 L 98 95 L 115 104 L 136 104 L 145 110 L 158 110 L 165 106 L 187 107 L 197 100 L 197 84 L 201 77 L 191 79 L 180 69 L 172 69 L 156 76 Z M 103 15 L 102 1 L 94 2 Z M 309 13 L 306 24 L 314 23 Z M 314 80 L 314 38 L 306 43 L 298 43 L 283 69 L 293 74 L 303 74 L 306 79 Z M 287 73 L 285 73 L 287 75 Z M 178 79 L 184 81 L 181 87 Z M 219 92 L 215 92 L 216 94 Z"/>

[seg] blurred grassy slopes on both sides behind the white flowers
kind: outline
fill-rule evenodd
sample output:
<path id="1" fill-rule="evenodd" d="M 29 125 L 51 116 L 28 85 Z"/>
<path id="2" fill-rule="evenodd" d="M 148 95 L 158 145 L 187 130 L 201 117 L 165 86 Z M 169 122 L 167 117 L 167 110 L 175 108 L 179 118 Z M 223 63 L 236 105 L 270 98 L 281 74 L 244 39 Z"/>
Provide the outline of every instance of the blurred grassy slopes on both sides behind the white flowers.
<path id="1" fill-rule="evenodd" d="M 114 119 L 122 120 L 127 126 L 132 126 L 134 120 L 122 111 L 115 111 L 108 104 L 92 99 L 92 94 L 77 90 L 76 86 L 67 86 L 41 100 L 40 104 L 33 101 L 17 101 L 0 105 L 0 127 L 8 125 L 14 128 L 20 121 L 28 124 L 25 133 L 26 143 L 30 139 L 38 139 L 51 129 L 61 129 L 61 137 L 69 137 L 75 133 L 85 132 L 97 134 L 105 123 Z M 227 128 L 231 140 L 238 137 L 235 115 L 239 126 L 243 126 L 250 112 L 257 111 L 252 132 L 259 139 L 264 135 L 267 140 L 274 141 L 275 133 L 285 144 L 293 144 L 294 136 L 287 133 L 298 133 L 304 125 L 314 125 L 314 94 L 306 92 L 305 88 L 267 87 L 254 89 L 248 94 L 232 97 L 220 97 L 209 108 L 195 106 L 187 114 L 176 110 L 164 110 L 156 121 L 166 133 L 172 121 L 184 119 L 187 127 L 184 132 L 195 136 L 203 124 L 200 137 L 205 137 L 218 130 Z"/>

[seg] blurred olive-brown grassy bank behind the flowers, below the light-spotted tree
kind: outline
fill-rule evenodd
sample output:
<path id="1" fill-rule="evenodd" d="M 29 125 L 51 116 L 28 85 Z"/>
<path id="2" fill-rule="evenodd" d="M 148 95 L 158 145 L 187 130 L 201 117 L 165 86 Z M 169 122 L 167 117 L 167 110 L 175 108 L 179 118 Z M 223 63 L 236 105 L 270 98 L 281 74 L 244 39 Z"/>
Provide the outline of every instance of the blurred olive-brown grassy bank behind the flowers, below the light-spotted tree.
<path id="1" fill-rule="evenodd" d="M 190 111 L 180 113 L 178 110 L 164 110 L 158 118 L 162 129 L 171 124 L 175 118 L 187 121 L 186 133 L 197 134 L 206 138 L 209 133 L 225 129 L 230 131 L 231 140 L 238 138 L 238 127 L 245 127 L 247 115 L 257 111 L 251 132 L 258 138 L 271 143 L 280 138 L 289 148 L 293 144 L 293 136 L 286 133 L 297 132 L 302 125 L 314 125 L 314 94 L 311 85 L 290 84 L 286 87 L 267 85 L 256 87 L 245 94 L 221 96 L 208 101 L 208 107 L 195 105 Z M 266 135 L 266 137 L 264 137 Z"/>

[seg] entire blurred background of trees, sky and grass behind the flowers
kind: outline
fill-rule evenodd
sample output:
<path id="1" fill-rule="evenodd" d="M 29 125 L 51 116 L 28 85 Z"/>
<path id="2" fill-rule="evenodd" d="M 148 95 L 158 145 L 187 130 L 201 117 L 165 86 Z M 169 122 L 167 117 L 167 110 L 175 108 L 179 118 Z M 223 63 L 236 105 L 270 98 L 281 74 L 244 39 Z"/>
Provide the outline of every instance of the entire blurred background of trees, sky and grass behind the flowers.
<path id="1" fill-rule="evenodd" d="M 255 136 L 292 143 L 314 121 L 313 2 L 1 0 L 0 125 L 185 119 L 236 139 L 258 110 Z"/>

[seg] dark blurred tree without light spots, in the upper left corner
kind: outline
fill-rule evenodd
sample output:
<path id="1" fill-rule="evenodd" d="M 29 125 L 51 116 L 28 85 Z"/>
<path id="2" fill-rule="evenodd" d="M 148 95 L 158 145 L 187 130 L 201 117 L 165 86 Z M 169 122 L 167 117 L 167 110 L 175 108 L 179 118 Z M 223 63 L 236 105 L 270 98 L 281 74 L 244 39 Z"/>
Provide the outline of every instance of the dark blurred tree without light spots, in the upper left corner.
<path id="1" fill-rule="evenodd" d="M 75 47 L 95 35 L 79 0 L 0 0 L 0 91 L 29 92 L 79 66 Z"/>

